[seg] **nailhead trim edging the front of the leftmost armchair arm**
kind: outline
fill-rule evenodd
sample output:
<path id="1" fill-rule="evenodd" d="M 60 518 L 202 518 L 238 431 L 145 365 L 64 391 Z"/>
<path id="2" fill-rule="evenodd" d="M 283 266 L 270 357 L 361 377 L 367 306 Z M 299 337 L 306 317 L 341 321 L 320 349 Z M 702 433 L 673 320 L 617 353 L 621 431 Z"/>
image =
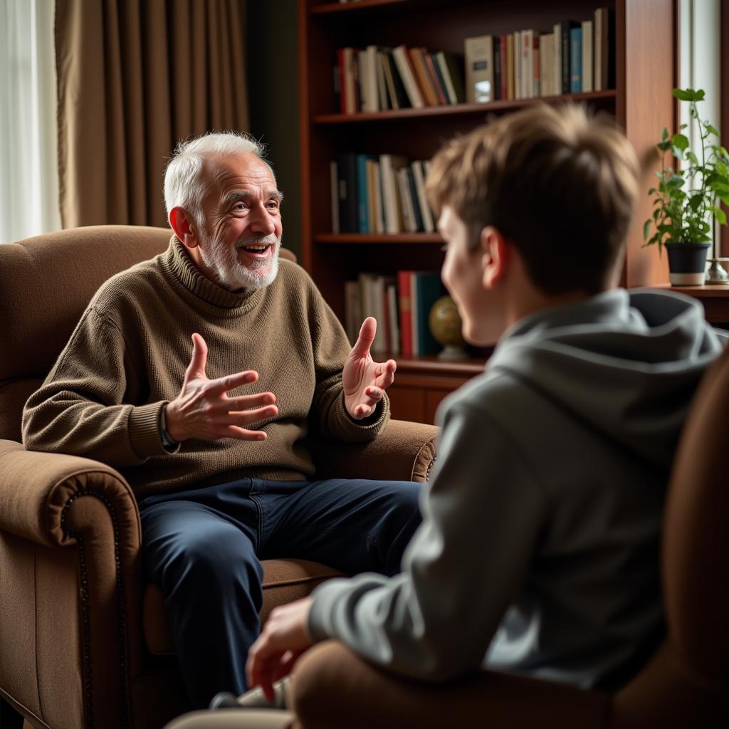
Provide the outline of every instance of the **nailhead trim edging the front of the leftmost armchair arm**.
<path id="1" fill-rule="evenodd" d="M 77 540 L 79 545 L 79 571 L 81 573 L 81 623 L 83 630 L 83 641 L 84 641 L 84 700 L 85 700 L 85 719 L 86 728 L 93 729 L 93 712 L 92 712 L 92 698 L 93 698 L 93 682 L 91 680 L 91 629 L 90 629 L 90 617 L 89 617 L 89 590 L 88 590 L 88 572 L 86 566 L 86 547 L 84 539 L 80 534 L 74 531 L 66 531 L 66 512 L 69 507 L 73 504 L 79 496 L 93 496 L 102 502 L 106 509 L 109 511 L 109 516 L 112 518 L 112 527 L 114 529 L 114 569 L 116 571 L 116 588 L 117 588 L 117 624 L 119 626 L 119 633 L 117 640 L 119 641 L 119 678 L 120 678 L 120 727 L 127 729 L 128 722 L 128 698 L 127 698 L 127 682 L 126 682 L 126 645 L 127 645 L 127 620 L 126 610 L 124 603 L 124 588 L 122 585 L 122 565 L 120 558 L 119 548 L 119 521 L 117 520 L 117 514 L 114 510 L 114 506 L 106 496 L 101 494 L 95 494 L 90 491 L 81 491 L 78 494 L 74 494 L 64 504 L 63 511 L 61 512 L 61 529 L 64 533 L 73 537 Z"/>

